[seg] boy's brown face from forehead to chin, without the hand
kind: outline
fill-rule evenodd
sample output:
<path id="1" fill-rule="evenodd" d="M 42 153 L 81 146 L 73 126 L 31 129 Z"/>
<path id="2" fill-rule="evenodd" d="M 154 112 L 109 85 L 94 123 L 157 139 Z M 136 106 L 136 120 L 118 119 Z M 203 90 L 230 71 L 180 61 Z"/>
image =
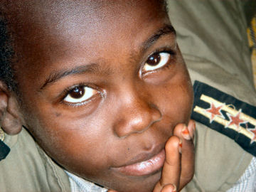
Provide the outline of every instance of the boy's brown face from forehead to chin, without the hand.
<path id="1" fill-rule="evenodd" d="M 159 1 L 28 4 L 11 21 L 26 127 L 68 171 L 117 191 L 151 191 L 193 100 Z"/>

